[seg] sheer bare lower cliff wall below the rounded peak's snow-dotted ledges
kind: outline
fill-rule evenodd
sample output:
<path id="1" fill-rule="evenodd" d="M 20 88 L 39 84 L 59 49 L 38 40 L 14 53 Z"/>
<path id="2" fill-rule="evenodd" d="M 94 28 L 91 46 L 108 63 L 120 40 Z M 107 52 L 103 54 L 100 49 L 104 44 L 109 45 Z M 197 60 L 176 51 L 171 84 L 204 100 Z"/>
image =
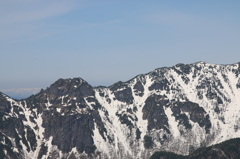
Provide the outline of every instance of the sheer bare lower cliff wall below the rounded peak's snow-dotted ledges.
<path id="1" fill-rule="evenodd" d="M 52 144 L 57 145 L 63 153 L 76 147 L 78 152 L 93 153 L 96 149 L 92 139 L 93 117 L 86 114 L 61 116 L 46 112 L 42 118 L 45 137 L 53 137 Z"/>

